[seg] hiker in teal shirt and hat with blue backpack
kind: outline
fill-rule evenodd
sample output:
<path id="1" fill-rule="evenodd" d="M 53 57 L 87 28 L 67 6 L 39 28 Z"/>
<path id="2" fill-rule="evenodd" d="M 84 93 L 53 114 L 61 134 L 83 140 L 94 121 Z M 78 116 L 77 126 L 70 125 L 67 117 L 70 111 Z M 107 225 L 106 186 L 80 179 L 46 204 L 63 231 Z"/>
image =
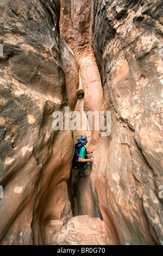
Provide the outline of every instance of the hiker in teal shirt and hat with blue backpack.
<path id="1" fill-rule="evenodd" d="M 90 166 L 89 162 L 93 162 L 93 156 L 91 159 L 87 157 L 87 154 L 92 154 L 95 150 L 92 149 L 92 151 L 87 151 L 85 148 L 85 145 L 87 144 L 87 139 L 85 135 L 80 136 L 78 139 L 78 143 L 75 145 L 75 155 L 74 155 L 74 166 L 79 168 L 79 175 L 83 176 L 87 173 L 87 169 Z M 79 154 L 78 154 L 79 153 Z"/>

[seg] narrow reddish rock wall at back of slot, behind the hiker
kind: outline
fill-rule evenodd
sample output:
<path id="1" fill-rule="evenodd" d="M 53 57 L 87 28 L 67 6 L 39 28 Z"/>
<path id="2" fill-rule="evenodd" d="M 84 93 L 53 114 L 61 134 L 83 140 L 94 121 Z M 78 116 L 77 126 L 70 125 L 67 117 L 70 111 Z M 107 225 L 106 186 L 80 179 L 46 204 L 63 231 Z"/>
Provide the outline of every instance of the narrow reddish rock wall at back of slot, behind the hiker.
<path id="1" fill-rule="evenodd" d="M 65 12 L 67 10 L 67 12 Z M 103 105 L 103 91 L 101 78 L 99 75 L 97 63 L 92 50 L 92 2 L 71 1 L 71 15 L 70 5 L 68 7 L 67 1 L 61 1 L 61 33 L 67 44 L 72 48 L 78 65 L 79 65 L 79 89 L 84 89 L 83 99 L 78 99 L 75 110 L 82 111 L 101 111 Z M 68 28 L 68 29 L 66 29 Z M 81 120 L 82 127 L 82 120 Z M 97 139 L 99 139 L 100 131 L 76 130 L 73 132 L 74 142 L 80 135 L 86 134 L 89 138 L 88 150 L 96 147 Z M 76 173 L 73 173 L 73 190 L 75 196 L 73 197 L 73 213 L 74 215 L 88 214 L 91 217 L 101 216 L 101 213 L 96 213 L 95 200 L 92 194 L 90 173 L 78 179 Z"/>

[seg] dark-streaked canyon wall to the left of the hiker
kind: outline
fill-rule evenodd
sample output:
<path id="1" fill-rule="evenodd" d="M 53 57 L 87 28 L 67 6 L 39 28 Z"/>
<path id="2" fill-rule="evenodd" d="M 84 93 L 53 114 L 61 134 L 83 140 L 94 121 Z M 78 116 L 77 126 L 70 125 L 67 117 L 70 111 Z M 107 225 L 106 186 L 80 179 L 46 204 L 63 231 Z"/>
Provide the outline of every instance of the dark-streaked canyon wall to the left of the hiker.
<path id="1" fill-rule="evenodd" d="M 72 217 L 72 136 L 52 129 L 53 112 L 67 104 L 60 2 L 2 1 L 0 8 L 1 243 L 48 243 L 49 223 Z"/>

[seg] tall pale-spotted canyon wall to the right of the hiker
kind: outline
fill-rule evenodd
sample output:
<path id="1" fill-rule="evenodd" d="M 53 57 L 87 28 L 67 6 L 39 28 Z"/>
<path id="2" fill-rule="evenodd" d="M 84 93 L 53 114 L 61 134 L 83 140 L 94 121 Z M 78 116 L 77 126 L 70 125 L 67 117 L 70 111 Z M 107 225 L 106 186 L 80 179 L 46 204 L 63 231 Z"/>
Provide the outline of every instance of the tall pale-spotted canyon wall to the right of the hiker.
<path id="1" fill-rule="evenodd" d="M 93 48 L 112 126 L 95 153 L 92 187 L 122 244 L 162 243 L 161 13 L 162 1 L 94 5 Z"/>

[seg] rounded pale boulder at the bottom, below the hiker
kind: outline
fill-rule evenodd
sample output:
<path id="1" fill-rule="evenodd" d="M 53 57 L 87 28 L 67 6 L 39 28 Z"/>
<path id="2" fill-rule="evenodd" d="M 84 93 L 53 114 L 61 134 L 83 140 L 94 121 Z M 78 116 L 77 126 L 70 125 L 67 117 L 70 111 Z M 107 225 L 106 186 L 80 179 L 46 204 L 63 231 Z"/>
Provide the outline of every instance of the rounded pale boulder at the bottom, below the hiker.
<path id="1" fill-rule="evenodd" d="M 88 215 L 71 218 L 60 231 L 57 245 L 112 245 L 104 222 Z"/>

